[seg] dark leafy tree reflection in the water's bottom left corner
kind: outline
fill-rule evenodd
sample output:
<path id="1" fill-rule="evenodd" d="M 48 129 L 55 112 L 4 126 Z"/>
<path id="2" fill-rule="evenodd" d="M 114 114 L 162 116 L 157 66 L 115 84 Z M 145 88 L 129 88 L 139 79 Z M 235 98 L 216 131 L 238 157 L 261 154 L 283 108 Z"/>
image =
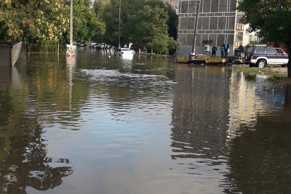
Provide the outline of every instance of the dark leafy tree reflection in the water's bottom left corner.
<path id="1" fill-rule="evenodd" d="M 23 119 L 24 126 L 14 126 L 2 147 L 0 163 L 0 188 L 6 193 L 26 193 L 25 187 L 48 190 L 61 185 L 62 178 L 73 173 L 72 167 L 52 167 L 53 159 L 47 157 L 45 140 L 41 138 L 42 129 L 36 119 Z M 18 132 L 13 132 L 14 130 Z M 7 140 L 9 142 L 7 142 Z M 1 142 L 1 146 L 3 142 Z M 7 154 L 3 154 L 5 152 Z M 57 162 L 69 163 L 68 159 Z M 57 164 L 57 162 L 55 164 Z M 1 191 L 0 190 L 0 191 Z"/>

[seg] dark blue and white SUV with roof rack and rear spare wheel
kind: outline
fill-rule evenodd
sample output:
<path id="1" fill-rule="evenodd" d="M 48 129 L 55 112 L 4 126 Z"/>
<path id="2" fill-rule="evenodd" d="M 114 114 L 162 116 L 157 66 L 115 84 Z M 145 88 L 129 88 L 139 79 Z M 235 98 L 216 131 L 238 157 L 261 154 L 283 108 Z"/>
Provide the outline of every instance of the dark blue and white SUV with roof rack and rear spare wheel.
<path id="1" fill-rule="evenodd" d="M 281 65 L 286 67 L 288 55 L 280 48 L 253 45 L 246 51 L 244 62 L 249 66 L 266 67 L 266 65 Z"/>

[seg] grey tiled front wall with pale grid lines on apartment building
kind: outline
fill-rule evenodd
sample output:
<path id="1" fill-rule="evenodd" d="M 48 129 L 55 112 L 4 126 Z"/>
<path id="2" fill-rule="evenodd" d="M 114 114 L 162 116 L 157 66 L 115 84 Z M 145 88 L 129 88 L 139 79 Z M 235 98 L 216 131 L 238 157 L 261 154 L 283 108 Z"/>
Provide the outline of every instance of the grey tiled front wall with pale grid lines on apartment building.
<path id="1" fill-rule="evenodd" d="M 189 50 L 193 44 L 197 1 L 179 0 L 178 41 Z M 196 46 L 234 46 L 236 0 L 201 0 Z"/>

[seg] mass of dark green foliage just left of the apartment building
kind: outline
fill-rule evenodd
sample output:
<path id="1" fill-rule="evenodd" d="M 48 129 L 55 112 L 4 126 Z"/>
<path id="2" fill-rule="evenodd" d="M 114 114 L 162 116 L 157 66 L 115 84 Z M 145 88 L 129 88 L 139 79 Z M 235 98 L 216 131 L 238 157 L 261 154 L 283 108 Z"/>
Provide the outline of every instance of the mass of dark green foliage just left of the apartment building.
<path id="1" fill-rule="evenodd" d="M 118 47 L 119 0 L 96 0 L 94 10 L 106 24 L 105 35 L 95 40 Z M 122 0 L 121 45 L 133 43 L 132 47 L 139 52 L 148 47 L 154 52 L 168 54 L 169 50 L 162 48 L 168 48 L 168 43 L 175 41 L 177 22 L 175 10 L 161 0 Z M 161 36 L 164 41 L 157 41 Z M 161 45 L 153 47 L 158 43 Z M 171 48 L 173 45 L 179 47 L 177 42 Z"/>

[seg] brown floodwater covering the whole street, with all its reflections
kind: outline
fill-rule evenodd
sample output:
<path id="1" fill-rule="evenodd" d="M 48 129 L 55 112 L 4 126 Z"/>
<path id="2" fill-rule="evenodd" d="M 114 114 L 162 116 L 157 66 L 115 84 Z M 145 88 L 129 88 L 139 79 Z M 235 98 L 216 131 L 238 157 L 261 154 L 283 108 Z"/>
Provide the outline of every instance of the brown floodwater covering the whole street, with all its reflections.
<path id="1" fill-rule="evenodd" d="M 1 67 L 0 193 L 290 193 L 291 85 L 109 55 Z"/>

